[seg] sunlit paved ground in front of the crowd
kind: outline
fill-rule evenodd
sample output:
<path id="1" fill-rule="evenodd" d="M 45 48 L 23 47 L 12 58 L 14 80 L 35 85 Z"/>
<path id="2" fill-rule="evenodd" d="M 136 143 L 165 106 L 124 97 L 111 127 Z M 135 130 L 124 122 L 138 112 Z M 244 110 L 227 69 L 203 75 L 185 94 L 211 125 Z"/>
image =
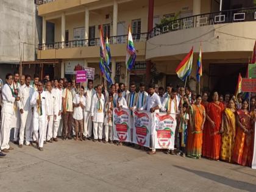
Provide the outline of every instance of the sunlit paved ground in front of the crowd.
<path id="1" fill-rule="evenodd" d="M 14 146 L 0 191 L 256 191 L 256 170 L 92 141 Z"/>

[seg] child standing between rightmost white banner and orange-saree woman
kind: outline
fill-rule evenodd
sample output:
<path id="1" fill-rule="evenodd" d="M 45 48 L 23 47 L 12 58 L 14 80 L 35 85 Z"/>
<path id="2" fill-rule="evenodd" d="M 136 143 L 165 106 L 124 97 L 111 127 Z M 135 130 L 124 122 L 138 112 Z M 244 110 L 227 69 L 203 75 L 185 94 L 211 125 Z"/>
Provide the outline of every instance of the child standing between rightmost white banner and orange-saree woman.
<path id="1" fill-rule="evenodd" d="M 180 110 L 180 124 L 179 124 L 179 140 L 180 149 L 178 155 L 182 154 L 182 157 L 186 157 L 186 143 L 187 143 L 187 126 L 188 126 L 188 104 L 183 103 L 182 110 Z"/>

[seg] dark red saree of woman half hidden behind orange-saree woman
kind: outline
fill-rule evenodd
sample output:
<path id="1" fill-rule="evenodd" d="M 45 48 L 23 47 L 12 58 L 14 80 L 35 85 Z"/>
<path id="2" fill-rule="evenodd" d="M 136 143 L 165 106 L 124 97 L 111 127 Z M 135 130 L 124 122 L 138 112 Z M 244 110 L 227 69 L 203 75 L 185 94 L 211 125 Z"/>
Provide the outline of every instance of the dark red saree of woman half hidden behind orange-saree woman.
<path id="1" fill-rule="evenodd" d="M 205 111 L 208 112 L 208 106 L 209 103 L 203 103 L 202 105 L 205 108 Z M 205 119 L 205 123 L 204 123 L 204 130 L 202 133 L 202 137 L 203 137 L 203 141 L 202 141 L 202 156 L 203 157 L 210 157 L 210 149 L 211 149 L 211 142 L 210 142 L 210 124 L 209 121 L 207 119 Z"/>

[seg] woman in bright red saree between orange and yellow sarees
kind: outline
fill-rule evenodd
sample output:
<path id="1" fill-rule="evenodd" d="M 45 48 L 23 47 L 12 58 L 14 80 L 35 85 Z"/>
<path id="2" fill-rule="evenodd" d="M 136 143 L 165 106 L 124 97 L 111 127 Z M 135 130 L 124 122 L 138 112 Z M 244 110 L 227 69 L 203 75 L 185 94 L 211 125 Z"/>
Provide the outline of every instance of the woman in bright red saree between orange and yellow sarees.
<path id="1" fill-rule="evenodd" d="M 207 149 L 208 151 L 205 157 L 211 158 L 213 160 L 219 160 L 219 154 L 221 151 L 220 130 L 224 105 L 218 100 L 218 92 L 213 93 L 213 102 L 209 103 L 208 112 L 206 115 L 210 127 L 210 146 Z"/>

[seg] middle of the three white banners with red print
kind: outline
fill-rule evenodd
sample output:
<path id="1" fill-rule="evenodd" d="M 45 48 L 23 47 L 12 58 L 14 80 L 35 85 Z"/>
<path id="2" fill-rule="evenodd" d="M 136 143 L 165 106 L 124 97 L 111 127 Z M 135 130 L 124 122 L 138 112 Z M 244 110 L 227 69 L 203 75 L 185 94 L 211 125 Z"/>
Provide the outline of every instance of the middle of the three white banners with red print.
<path id="1" fill-rule="evenodd" d="M 133 129 L 133 143 L 149 148 L 150 133 L 151 133 L 151 113 L 145 111 L 135 111 L 133 113 L 134 129 Z"/>

